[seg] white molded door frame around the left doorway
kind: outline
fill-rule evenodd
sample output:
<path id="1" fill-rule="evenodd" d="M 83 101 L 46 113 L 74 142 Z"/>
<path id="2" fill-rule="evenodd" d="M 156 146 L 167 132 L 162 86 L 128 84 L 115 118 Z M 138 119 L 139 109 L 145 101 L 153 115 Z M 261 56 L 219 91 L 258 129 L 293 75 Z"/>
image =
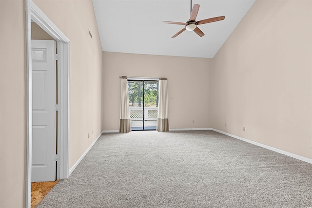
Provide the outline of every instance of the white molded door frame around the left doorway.
<path id="1" fill-rule="evenodd" d="M 69 39 L 39 9 L 32 0 L 25 0 L 26 10 L 26 76 L 27 76 L 27 144 L 26 144 L 26 180 L 25 207 L 31 204 L 32 169 L 32 59 L 31 59 L 31 21 L 37 23 L 58 44 L 58 163 L 57 179 L 69 177 L 69 140 L 70 140 L 70 74 Z"/>

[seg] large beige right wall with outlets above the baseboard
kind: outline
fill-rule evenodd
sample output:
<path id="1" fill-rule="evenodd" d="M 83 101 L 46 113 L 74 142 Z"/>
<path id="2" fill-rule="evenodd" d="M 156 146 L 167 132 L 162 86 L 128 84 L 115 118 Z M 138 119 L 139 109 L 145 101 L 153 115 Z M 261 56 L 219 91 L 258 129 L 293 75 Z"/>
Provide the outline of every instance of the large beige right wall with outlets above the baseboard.
<path id="1" fill-rule="evenodd" d="M 254 3 L 213 59 L 213 128 L 312 158 L 311 11 Z"/>

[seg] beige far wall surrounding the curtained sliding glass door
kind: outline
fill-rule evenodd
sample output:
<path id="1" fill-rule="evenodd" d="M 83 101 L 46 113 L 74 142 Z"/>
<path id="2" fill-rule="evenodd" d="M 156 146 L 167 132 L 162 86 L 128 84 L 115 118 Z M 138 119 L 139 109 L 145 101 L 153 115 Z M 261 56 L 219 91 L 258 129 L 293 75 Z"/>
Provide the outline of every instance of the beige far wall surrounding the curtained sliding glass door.
<path id="1" fill-rule="evenodd" d="M 211 61 L 103 52 L 103 130 L 119 130 L 119 76 L 167 77 L 169 128 L 210 128 Z"/>

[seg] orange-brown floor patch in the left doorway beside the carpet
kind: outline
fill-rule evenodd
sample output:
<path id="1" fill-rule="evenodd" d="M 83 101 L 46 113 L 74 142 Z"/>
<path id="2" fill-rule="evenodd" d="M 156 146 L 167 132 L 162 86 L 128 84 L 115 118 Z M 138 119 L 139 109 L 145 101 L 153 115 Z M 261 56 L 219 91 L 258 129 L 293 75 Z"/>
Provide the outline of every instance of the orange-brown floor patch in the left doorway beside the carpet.
<path id="1" fill-rule="evenodd" d="M 31 208 L 36 208 L 47 193 L 58 183 L 53 182 L 32 182 L 31 183 Z"/>

